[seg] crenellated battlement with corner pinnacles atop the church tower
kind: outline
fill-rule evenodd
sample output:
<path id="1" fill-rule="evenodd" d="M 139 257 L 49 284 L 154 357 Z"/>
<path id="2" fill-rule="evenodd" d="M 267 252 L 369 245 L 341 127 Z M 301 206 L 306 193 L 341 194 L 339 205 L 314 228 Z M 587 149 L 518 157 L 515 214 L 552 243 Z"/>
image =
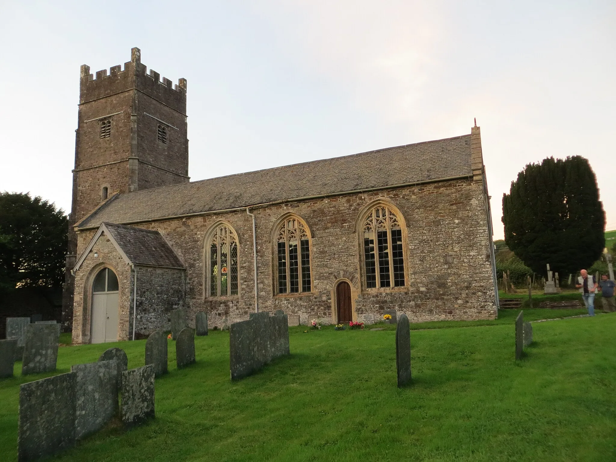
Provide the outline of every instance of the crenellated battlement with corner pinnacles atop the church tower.
<path id="1" fill-rule="evenodd" d="M 186 79 L 179 79 L 174 86 L 166 77 L 163 77 L 161 82 L 160 73 L 155 70 L 150 69 L 149 73 L 146 71 L 147 67 L 141 62 L 139 48 L 131 49 L 131 60 L 124 63 L 124 70 L 121 65 L 117 65 L 109 69 L 109 74 L 107 69 L 103 69 L 97 71 L 94 77 L 90 73 L 90 67 L 84 64 L 81 66 L 79 103 L 84 104 L 105 96 L 137 89 L 185 114 Z"/>

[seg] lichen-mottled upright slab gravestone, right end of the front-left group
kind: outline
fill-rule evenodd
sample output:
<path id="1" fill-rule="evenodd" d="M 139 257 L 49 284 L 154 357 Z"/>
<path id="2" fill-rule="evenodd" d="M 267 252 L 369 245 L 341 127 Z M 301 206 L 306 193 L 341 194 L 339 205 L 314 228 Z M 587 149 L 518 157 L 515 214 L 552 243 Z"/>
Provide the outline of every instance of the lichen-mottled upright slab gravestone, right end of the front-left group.
<path id="1" fill-rule="evenodd" d="M 154 418 L 154 367 L 152 364 L 122 373 L 122 422 L 127 427 Z"/>

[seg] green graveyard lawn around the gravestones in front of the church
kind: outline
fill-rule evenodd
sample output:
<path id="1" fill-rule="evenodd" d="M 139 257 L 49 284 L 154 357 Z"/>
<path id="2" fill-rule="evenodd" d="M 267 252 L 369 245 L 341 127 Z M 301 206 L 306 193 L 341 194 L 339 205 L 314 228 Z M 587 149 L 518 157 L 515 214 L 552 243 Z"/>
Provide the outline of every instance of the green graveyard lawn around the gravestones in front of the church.
<path id="1" fill-rule="evenodd" d="M 197 337 L 197 363 L 182 370 L 169 341 L 156 419 L 130 431 L 111 424 L 52 460 L 616 460 L 616 314 L 533 323 L 535 343 L 518 362 L 516 315 L 411 331 L 413 379 L 403 389 L 395 326 L 291 328 L 290 357 L 235 383 L 228 332 Z M 59 372 L 111 346 L 125 349 L 129 368 L 144 364 L 145 341 L 60 347 Z M 2 460 L 17 460 L 18 385 L 50 375 L 0 381 Z"/>

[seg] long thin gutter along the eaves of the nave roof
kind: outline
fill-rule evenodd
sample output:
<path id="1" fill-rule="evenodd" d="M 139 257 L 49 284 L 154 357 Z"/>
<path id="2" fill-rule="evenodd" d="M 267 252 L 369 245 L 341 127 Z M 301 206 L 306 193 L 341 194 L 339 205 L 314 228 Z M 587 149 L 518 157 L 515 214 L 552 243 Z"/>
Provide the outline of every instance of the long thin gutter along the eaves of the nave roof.
<path id="1" fill-rule="evenodd" d="M 434 180 L 413 181 L 413 182 L 410 182 L 410 183 L 402 183 L 402 184 L 397 184 L 397 185 L 379 186 L 379 187 L 376 187 L 376 188 L 354 189 L 354 190 L 351 190 L 351 191 L 341 191 L 341 192 L 334 192 L 334 193 L 318 194 L 318 195 L 314 195 L 314 196 L 304 196 L 304 197 L 289 198 L 289 199 L 283 199 L 283 200 L 277 200 L 277 201 L 271 201 L 271 202 L 257 203 L 257 204 L 248 205 L 248 206 L 233 207 L 233 208 L 230 208 L 230 209 L 208 210 L 208 211 L 204 211 L 204 212 L 185 213 L 185 214 L 181 214 L 181 215 L 169 215 L 169 216 L 166 216 L 166 217 L 157 217 L 157 218 L 149 218 L 149 219 L 141 219 L 141 220 L 123 221 L 123 222 L 118 223 L 118 224 L 120 224 L 120 225 L 132 225 L 132 224 L 137 224 L 137 223 L 149 223 L 149 222 L 153 222 L 153 221 L 164 221 L 164 220 L 174 220 L 174 219 L 178 219 L 178 218 L 196 217 L 196 216 L 209 215 L 209 214 L 214 214 L 214 213 L 237 212 L 237 211 L 245 210 L 247 208 L 256 209 L 256 208 L 269 207 L 269 206 L 272 206 L 272 205 L 285 204 L 285 203 L 288 203 L 288 202 L 298 202 L 298 201 L 306 201 L 306 200 L 313 200 L 313 199 L 322 199 L 322 198 L 333 197 L 333 196 L 342 196 L 342 195 L 347 195 L 347 194 L 357 194 L 357 193 L 366 193 L 366 192 L 372 192 L 372 191 L 382 191 L 384 189 L 405 188 L 405 187 L 416 186 L 416 185 L 421 185 L 421 184 L 439 183 L 439 182 L 442 182 L 442 181 L 462 180 L 462 179 L 469 179 L 469 178 L 472 179 L 472 173 L 471 174 L 466 174 L 466 175 L 451 176 L 451 177 L 447 177 L 447 178 L 438 178 L 438 179 L 434 179 Z M 94 226 L 84 226 L 84 227 L 77 227 L 77 226 L 75 226 L 75 231 L 86 231 L 86 230 L 89 230 L 89 229 L 97 229 L 99 226 L 100 226 L 100 223 L 98 225 L 94 225 Z"/>

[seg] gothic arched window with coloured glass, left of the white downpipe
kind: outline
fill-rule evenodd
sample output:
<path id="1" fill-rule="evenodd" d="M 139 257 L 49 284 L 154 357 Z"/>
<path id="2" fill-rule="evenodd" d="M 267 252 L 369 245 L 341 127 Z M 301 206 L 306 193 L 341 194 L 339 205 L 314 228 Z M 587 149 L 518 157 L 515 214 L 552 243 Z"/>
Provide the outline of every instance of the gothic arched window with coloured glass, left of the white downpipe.
<path id="1" fill-rule="evenodd" d="M 206 241 L 209 296 L 237 295 L 237 255 L 237 235 L 226 225 L 218 225 Z"/>

